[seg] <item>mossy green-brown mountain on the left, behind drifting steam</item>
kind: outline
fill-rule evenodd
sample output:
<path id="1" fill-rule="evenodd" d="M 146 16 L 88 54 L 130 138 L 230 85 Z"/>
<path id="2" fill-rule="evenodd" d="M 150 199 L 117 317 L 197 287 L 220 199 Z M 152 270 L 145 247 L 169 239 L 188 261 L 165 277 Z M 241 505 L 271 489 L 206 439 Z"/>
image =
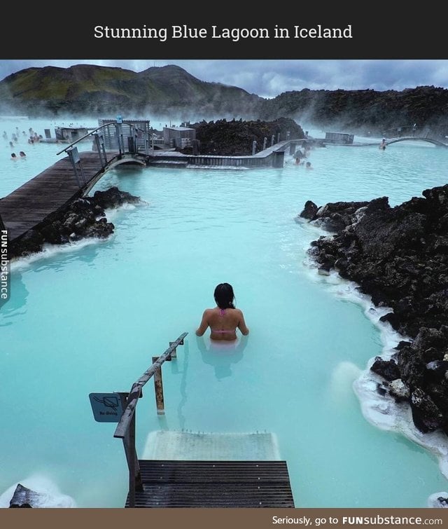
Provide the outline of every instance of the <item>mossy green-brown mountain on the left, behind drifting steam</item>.
<path id="1" fill-rule="evenodd" d="M 151 114 L 189 119 L 192 114 L 232 116 L 234 111 L 241 116 L 241 109 L 249 116 L 260 100 L 241 88 L 200 81 L 173 65 L 139 73 L 90 64 L 27 68 L 0 81 L 0 112 L 28 116 Z"/>

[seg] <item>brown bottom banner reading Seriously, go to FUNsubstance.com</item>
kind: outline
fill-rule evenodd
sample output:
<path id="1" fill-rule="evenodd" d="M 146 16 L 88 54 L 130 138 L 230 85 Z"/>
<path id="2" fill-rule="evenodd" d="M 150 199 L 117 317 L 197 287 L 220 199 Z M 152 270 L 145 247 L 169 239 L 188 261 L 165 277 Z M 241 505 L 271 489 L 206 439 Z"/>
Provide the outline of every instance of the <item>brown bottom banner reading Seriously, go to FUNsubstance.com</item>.
<path id="1" fill-rule="evenodd" d="M 348 528 L 420 526 L 448 527 L 448 511 L 440 509 L 1 509 L 5 527 L 108 529 L 137 525 L 195 529 Z"/>

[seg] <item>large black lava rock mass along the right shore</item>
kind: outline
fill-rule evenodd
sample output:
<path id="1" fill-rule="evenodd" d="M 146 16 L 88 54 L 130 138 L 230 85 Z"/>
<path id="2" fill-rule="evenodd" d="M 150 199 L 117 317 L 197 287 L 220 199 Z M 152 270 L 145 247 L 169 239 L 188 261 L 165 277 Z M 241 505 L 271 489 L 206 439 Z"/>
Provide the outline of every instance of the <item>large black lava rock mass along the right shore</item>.
<path id="1" fill-rule="evenodd" d="M 321 273 L 358 283 L 374 305 L 392 309 L 381 320 L 409 337 L 372 371 L 409 403 L 421 432 L 448 433 L 448 185 L 422 194 L 395 207 L 387 197 L 308 201 L 300 218 L 333 233 L 311 242 Z"/>

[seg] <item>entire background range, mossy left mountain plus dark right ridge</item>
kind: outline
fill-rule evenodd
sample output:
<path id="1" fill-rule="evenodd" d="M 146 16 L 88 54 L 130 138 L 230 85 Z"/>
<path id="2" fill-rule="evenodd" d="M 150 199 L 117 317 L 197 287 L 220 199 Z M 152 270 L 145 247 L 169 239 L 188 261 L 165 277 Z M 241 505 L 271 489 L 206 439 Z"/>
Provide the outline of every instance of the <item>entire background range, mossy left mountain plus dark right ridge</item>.
<path id="1" fill-rule="evenodd" d="M 273 99 L 200 81 L 169 65 L 139 73 L 78 64 L 18 71 L 0 81 L 0 113 L 28 116 L 160 116 L 181 121 L 293 118 L 326 130 L 392 137 L 412 125 L 419 135 L 448 135 L 448 90 L 292 90 Z"/>

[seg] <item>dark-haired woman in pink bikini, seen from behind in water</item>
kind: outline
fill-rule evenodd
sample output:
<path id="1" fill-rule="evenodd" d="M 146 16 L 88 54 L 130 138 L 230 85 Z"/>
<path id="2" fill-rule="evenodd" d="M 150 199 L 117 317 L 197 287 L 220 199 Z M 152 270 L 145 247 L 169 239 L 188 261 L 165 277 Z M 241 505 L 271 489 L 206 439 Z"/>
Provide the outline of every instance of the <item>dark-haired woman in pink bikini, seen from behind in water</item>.
<path id="1" fill-rule="evenodd" d="M 235 308 L 235 294 L 231 284 L 220 283 L 215 289 L 215 308 L 206 308 L 202 315 L 200 326 L 196 330 L 196 336 L 202 336 L 210 327 L 211 340 L 231 341 L 237 339 L 237 328 L 241 334 L 247 336 L 249 329 L 246 327 L 244 315 Z"/>

